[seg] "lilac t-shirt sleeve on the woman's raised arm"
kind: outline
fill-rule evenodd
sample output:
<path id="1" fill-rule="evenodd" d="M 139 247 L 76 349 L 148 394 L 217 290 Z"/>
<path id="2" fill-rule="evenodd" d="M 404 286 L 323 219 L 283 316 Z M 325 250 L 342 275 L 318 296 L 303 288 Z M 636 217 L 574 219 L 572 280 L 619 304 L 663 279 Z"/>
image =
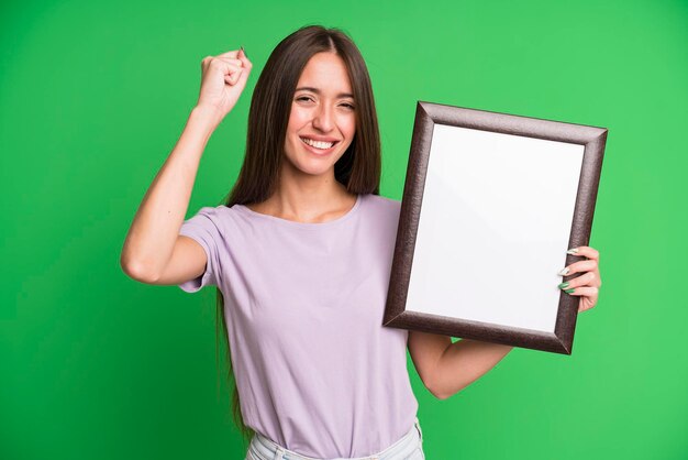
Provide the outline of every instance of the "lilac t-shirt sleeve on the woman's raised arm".
<path id="1" fill-rule="evenodd" d="M 222 234 L 218 219 L 219 208 L 203 207 L 181 223 L 179 234 L 196 240 L 206 251 L 208 259 L 206 272 L 202 275 L 179 284 L 179 287 L 187 293 L 196 293 L 203 286 L 218 286 L 221 280 L 222 264 L 218 248 L 222 247 L 219 244 Z"/>

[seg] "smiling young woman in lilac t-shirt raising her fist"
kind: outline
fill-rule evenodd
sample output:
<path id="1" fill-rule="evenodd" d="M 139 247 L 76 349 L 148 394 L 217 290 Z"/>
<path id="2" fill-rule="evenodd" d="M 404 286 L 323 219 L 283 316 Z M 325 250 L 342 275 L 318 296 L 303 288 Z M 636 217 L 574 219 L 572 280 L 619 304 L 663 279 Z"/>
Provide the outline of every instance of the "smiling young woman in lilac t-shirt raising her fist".
<path id="1" fill-rule="evenodd" d="M 379 196 L 370 79 L 336 29 L 302 28 L 273 51 L 236 184 L 224 205 L 184 220 L 203 149 L 251 68 L 243 48 L 202 61 L 198 103 L 136 212 L 122 267 L 187 292 L 218 286 L 247 459 L 423 459 L 407 347 L 439 398 L 511 347 L 381 326 L 400 202 Z M 599 255 L 577 251 L 588 260 L 561 274 L 584 274 L 559 287 L 584 310 L 597 303 Z"/>

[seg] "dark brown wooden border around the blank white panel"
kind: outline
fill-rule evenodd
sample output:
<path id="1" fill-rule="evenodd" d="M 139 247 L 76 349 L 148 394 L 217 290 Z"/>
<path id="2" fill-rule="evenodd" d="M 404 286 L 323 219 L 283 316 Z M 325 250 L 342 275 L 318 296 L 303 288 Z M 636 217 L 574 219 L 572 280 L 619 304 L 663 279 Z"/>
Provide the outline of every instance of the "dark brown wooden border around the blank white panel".
<path id="1" fill-rule="evenodd" d="M 554 333 L 404 310 L 435 123 L 585 145 L 569 248 L 588 245 L 590 238 L 607 142 L 608 130 L 606 128 L 418 101 L 382 324 L 403 329 L 570 354 L 580 297 L 570 296 L 564 292 L 559 297 Z M 585 258 L 567 255 L 565 265 L 578 260 L 585 260 Z M 565 276 L 564 281 L 579 275 Z"/>

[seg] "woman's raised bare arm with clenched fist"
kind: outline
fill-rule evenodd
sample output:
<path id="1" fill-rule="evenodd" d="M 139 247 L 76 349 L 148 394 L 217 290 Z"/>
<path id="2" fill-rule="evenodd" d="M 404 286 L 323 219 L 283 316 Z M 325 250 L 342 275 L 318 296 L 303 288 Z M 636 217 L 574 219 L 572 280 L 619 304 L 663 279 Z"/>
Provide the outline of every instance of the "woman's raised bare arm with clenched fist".
<path id="1" fill-rule="evenodd" d="M 120 264 L 130 277 L 149 284 L 179 284 L 200 276 L 207 256 L 179 234 L 203 150 L 234 107 L 251 72 L 243 50 L 206 57 L 197 106 L 174 150 L 155 176 L 124 240 Z"/>

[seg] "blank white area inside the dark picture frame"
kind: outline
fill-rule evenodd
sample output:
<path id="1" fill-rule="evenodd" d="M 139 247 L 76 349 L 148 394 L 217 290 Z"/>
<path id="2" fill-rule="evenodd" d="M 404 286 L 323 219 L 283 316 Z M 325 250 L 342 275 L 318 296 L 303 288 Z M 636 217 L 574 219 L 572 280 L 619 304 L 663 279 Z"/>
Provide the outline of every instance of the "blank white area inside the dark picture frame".
<path id="1" fill-rule="evenodd" d="M 435 123 L 407 311 L 554 332 L 582 156 Z"/>

